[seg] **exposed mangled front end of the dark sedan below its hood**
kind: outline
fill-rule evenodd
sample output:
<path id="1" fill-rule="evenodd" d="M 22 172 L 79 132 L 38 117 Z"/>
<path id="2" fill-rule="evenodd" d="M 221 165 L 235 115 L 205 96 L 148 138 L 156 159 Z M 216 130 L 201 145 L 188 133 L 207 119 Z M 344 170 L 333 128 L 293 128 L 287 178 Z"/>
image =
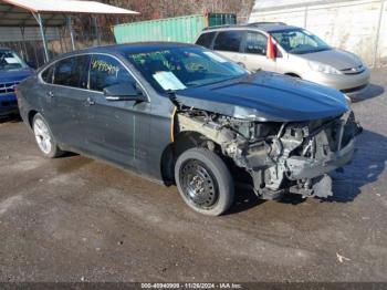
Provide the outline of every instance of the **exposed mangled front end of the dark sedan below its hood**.
<path id="1" fill-rule="evenodd" d="M 176 130 L 197 132 L 248 172 L 255 194 L 276 199 L 284 193 L 304 197 L 332 195 L 327 175 L 352 160 L 362 131 L 353 112 L 310 122 L 254 122 L 179 110 Z"/>

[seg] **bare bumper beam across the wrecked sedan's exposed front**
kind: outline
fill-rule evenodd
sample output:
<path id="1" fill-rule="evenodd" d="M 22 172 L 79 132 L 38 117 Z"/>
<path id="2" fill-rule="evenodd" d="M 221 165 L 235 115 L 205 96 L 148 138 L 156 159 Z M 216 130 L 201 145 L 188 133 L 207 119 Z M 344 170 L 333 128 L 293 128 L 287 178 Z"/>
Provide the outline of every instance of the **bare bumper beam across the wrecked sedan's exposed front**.
<path id="1" fill-rule="evenodd" d="M 355 138 L 336 153 L 330 153 L 324 159 L 310 159 L 294 156 L 286 160 L 287 178 L 291 180 L 308 179 L 322 176 L 351 163 L 355 152 Z"/>

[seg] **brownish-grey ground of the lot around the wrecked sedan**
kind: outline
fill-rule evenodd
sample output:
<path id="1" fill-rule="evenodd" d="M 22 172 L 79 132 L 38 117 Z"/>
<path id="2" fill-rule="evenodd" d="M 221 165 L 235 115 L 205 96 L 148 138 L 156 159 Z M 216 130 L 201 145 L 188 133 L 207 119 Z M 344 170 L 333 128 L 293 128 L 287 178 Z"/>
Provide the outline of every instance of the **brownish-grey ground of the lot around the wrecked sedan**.
<path id="1" fill-rule="evenodd" d="M 331 200 L 259 201 L 222 217 L 81 156 L 41 157 L 0 124 L 1 281 L 387 281 L 387 71 L 354 111 L 365 128 Z"/>

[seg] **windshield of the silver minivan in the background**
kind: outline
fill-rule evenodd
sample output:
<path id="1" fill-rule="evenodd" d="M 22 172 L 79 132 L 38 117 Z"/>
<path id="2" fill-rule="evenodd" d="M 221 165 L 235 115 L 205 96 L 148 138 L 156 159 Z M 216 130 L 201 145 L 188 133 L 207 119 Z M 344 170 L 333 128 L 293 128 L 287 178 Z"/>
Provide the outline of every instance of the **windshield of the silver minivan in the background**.
<path id="1" fill-rule="evenodd" d="M 289 53 L 304 54 L 331 50 L 328 44 L 303 29 L 275 31 L 270 34 Z"/>

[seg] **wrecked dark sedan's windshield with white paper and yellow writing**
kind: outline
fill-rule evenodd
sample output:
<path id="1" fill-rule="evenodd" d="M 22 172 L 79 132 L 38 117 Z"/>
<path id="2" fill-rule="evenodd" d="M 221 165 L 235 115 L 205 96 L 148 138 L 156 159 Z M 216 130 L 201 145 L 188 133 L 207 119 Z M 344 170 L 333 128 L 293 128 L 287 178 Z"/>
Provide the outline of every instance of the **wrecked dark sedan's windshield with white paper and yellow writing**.
<path id="1" fill-rule="evenodd" d="M 223 82 L 248 74 L 238 64 L 201 48 L 168 48 L 125 56 L 161 92 Z"/>

